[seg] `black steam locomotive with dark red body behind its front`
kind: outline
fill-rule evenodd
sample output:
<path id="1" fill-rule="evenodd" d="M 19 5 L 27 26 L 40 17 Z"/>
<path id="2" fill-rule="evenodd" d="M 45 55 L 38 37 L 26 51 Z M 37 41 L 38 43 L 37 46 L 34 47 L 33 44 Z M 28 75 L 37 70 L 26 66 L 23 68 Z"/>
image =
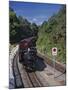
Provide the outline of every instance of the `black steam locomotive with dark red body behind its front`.
<path id="1" fill-rule="evenodd" d="M 19 43 L 19 62 L 23 63 L 26 69 L 33 70 L 36 60 L 36 38 L 30 37 L 21 40 Z"/>

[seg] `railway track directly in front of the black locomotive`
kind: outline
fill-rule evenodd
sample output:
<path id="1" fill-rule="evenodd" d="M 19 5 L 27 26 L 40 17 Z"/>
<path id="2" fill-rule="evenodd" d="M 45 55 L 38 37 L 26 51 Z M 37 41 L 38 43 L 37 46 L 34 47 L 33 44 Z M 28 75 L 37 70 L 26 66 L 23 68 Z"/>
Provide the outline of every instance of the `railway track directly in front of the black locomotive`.
<path id="1" fill-rule="evenodd" d="M 26 71 L 26 73 L 30 80 L 30 83 L 32 84 L 32 87 L 43 87 L 43 84 L 41 83 L 35 72 Z"/>

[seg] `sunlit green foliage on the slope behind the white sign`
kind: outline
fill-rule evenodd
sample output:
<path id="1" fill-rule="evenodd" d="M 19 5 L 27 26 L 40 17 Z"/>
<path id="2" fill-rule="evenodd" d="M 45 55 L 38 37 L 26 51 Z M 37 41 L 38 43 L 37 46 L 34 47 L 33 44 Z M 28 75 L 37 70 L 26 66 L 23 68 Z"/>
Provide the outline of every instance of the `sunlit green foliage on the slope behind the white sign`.
<path id="1" fill-rule="evenodd" d="M 65 5 L 56 15 L 44 21 L 38 32 L 37 48 L 49 57 L 52 47 L 58 48 L 57 60 L 65 63 L 66 55 L 66 7 Z"/>

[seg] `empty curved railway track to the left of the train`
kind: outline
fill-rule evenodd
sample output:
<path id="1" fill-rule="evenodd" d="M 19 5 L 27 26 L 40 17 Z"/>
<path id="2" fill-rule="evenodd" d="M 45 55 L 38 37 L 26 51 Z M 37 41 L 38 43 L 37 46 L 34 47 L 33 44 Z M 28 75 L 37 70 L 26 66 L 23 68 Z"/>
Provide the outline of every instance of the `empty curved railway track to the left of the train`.
<path id="1" fill-rule="evenodd" d="M 15 81 L 15 88 L 23 88 L 24 85 L 23 85 L 23 82 L 22 82 L 22 78 L 21 78 L 21 74 L 20 74 L 19 68 L 18 68 L 17 59 L 18 59 L 18 55 L 16 54 L 14 56 L 13 66 L 12 66 L 12 68 L 13 68 L 13 75 L 14 75 L 14 81 Z"/>

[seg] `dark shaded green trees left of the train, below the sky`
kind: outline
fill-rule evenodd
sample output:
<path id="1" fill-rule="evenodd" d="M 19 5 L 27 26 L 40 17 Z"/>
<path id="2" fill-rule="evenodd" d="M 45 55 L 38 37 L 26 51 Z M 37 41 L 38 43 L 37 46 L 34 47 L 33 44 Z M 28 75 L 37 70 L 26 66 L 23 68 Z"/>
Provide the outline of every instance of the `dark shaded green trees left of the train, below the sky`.
<path id="1" fill-rule="evenodd" d="M 18 43 L 20 40 L 37 36 L 38 27 L 35 23 L 31 24 L 27 19 L 16 16 L 13 9 L 9 9 L 10 20 L 10 43 Z"/>

